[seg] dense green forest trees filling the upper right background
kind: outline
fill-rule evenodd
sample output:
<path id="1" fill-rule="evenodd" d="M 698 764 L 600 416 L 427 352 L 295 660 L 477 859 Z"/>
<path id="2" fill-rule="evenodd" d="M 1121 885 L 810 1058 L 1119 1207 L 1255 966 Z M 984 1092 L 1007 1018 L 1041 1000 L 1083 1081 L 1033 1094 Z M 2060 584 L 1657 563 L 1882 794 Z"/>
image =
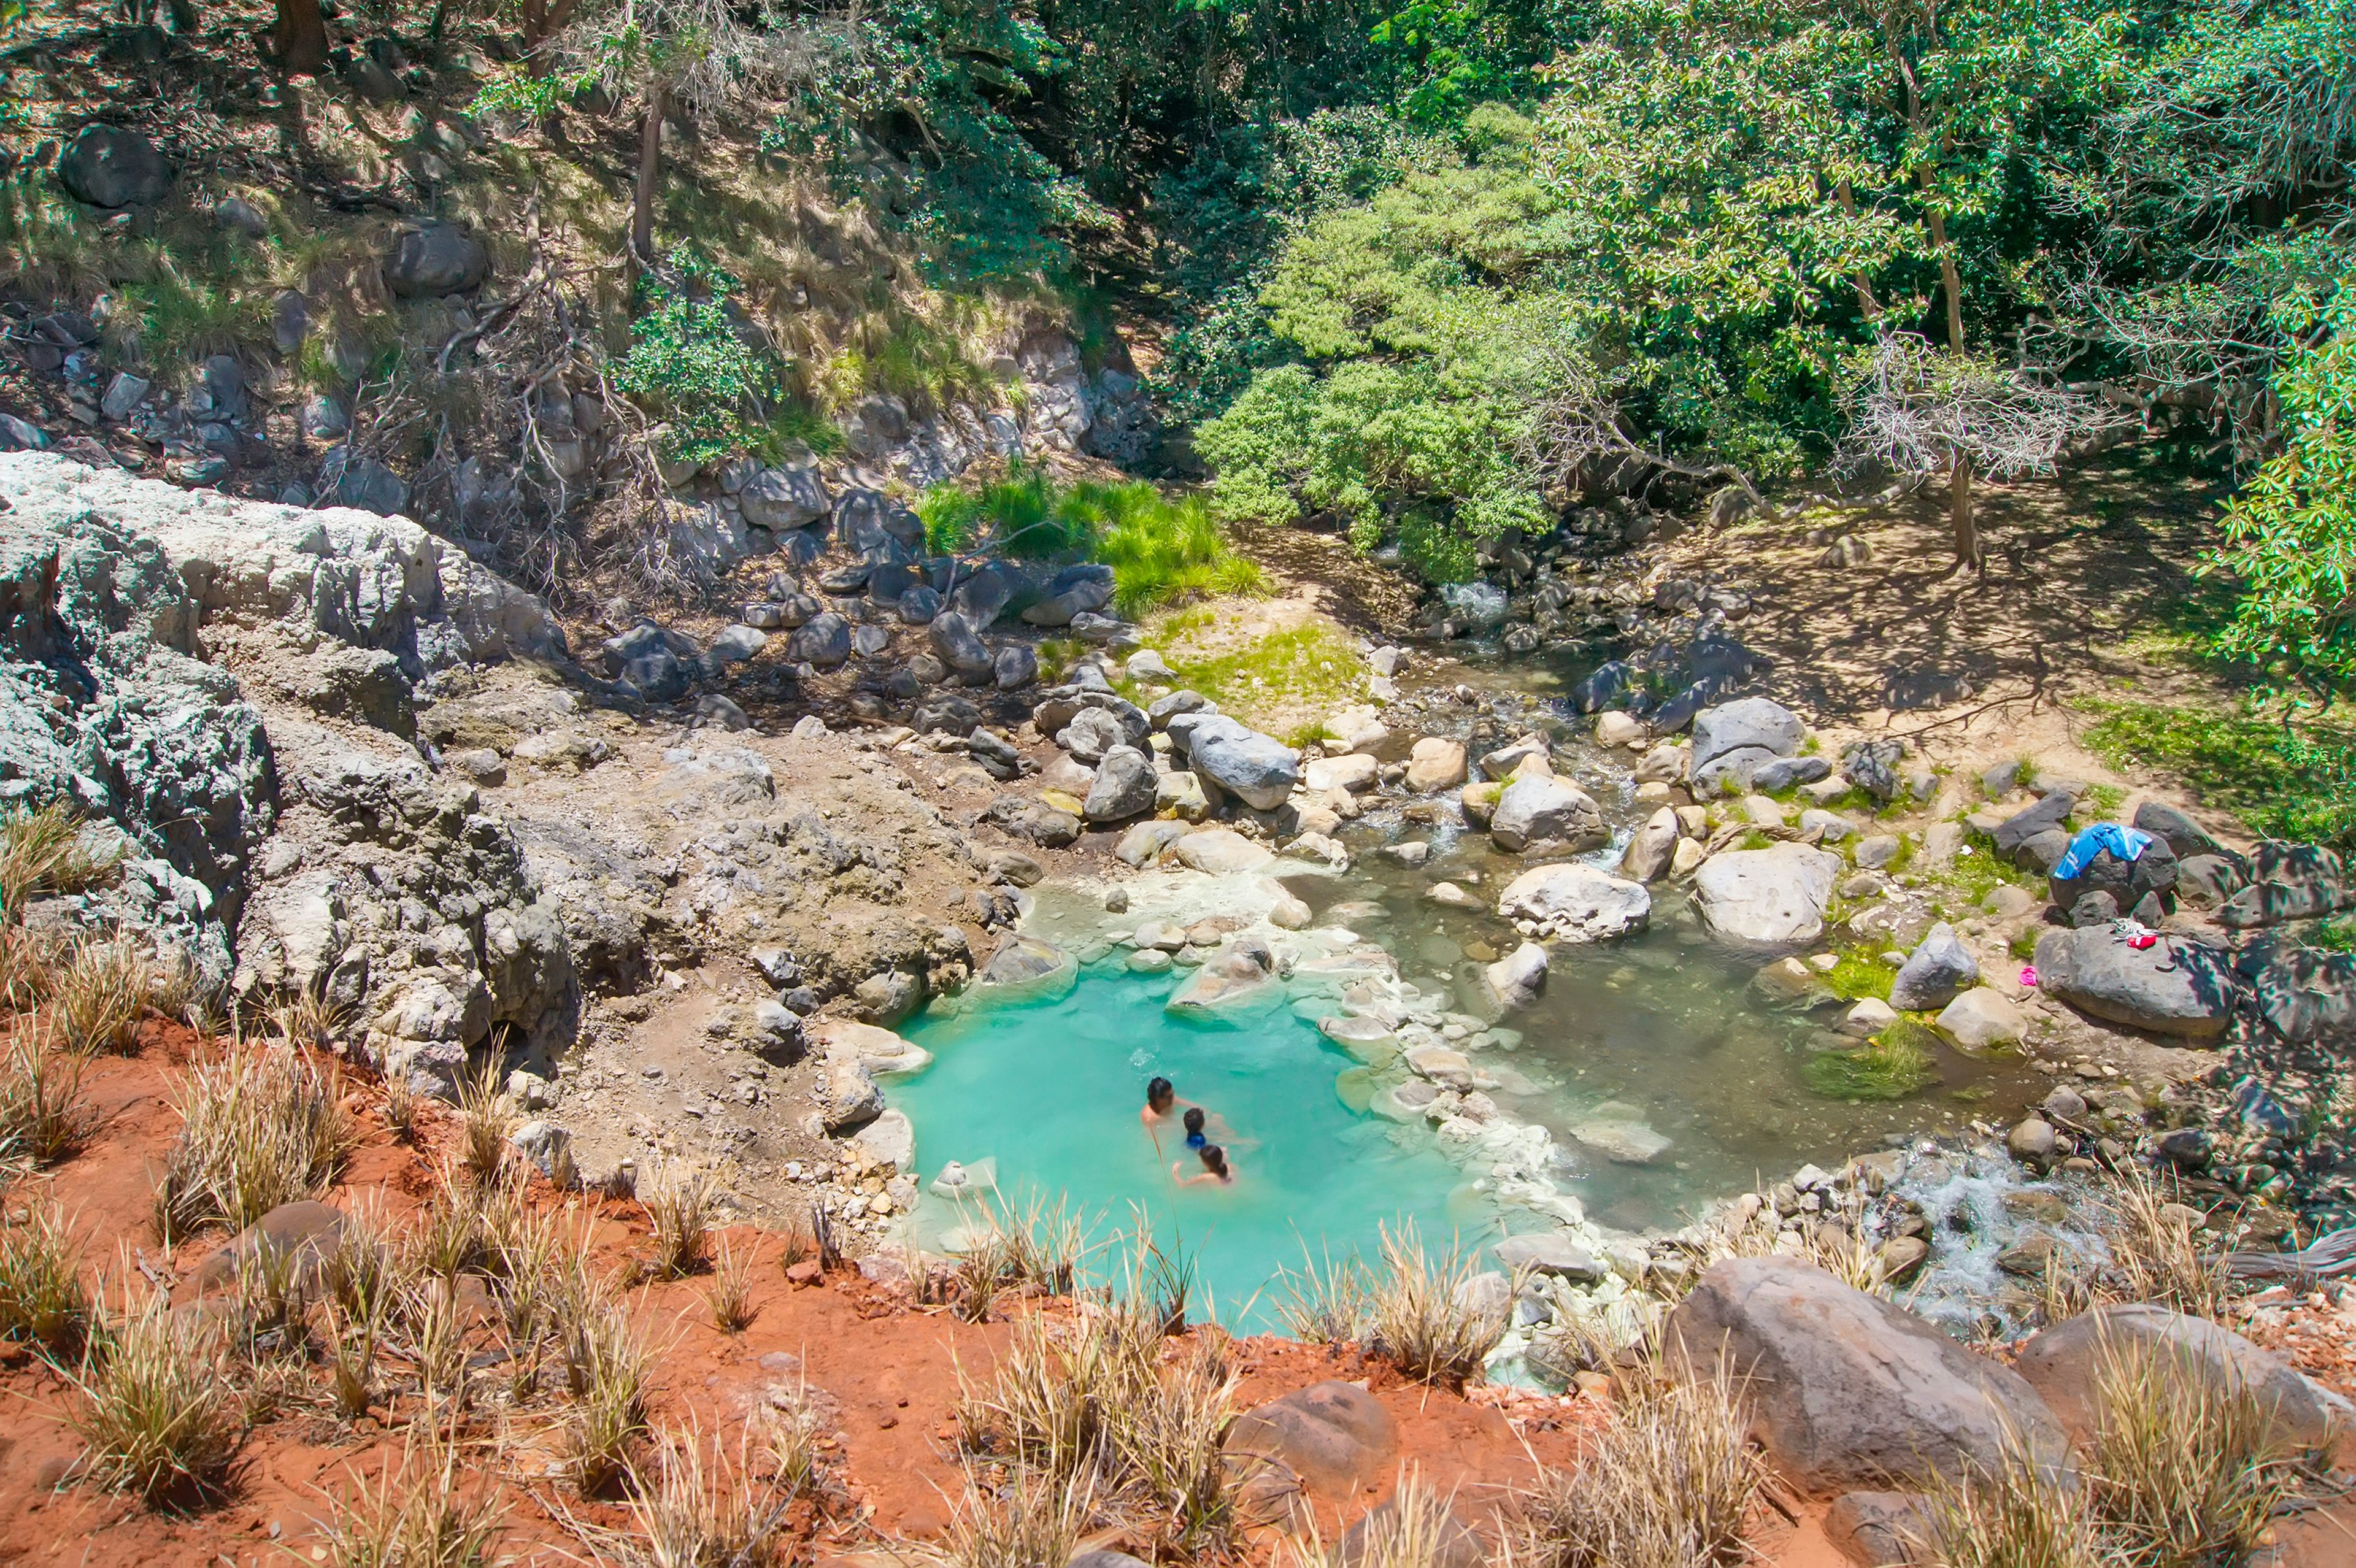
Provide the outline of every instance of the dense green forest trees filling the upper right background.
<path id="1" fill-rule="evenodd" d="M 1977 476 L 2160 433 L 2271 464 L 2229 530 L 2243 652 L 2347 673 L 2351 0 L 580 0 L 535 26 L 485 106 L 634 97 L 653 167 L 664 111 L 759 101 L 848 188 L 905 160 L 879 205 L 938 275 L 1159 315 L 1225 520 L 1331 520 L 1451 579 L 1579 497 L 1831 469 L 1946 485 L 1972 560 Z"/>

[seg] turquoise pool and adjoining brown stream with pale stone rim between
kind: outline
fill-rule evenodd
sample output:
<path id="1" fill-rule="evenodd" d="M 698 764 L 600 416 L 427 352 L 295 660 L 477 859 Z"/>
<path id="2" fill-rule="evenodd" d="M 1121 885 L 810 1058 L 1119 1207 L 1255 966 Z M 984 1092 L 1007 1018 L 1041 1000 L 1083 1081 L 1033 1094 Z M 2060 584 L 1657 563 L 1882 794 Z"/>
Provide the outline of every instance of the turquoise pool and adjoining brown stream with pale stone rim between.
<path id="1" fill-rule="evenodd" d="M 1477 683 L 1470 702 L 1456 680 Z M 1560 704 L 1562 680 L 1534 664 L 1444 666 L 1444 683 L 1435 671 L 1385 711 L 1392 742 L 1383 756 L 1404 756 L 1418 735 L 1465 737 L 1477 725 L 1548 732 L 1555 772 L 1586 789 L 1614 829 L 1609 848 L 1576 859 L 1616 869 L 1654 803 L 1635 798 L 1635 756 L 1597 746 Z M 1496 913 L 1496 892 L 1527 862 L 1465 826 L 1454 791 L 1366 796 L 1338 838 L 1350 850 L 1343 871 L 1291 855 L 1220 878 L 1140 871 L 1124 883 L 1131 904 L 1121 913 L 1105 909 L 1110 883 L 1032 890 L 1023 935 L 1070 954 L 1065 972 L 1018 994 L 973 986 L 905 1026 L 933 1055 L 928 1069 L 891 1085 L 916 1130 L 921 1180 L 957 1161 L 994 1180 L 1015 1210 L 1063 1198 L 1100 1234 L 1143 1217 L 1157 1238 L 1185 1245 L 1223 1321 L 1270 1328 L 1282 1269 L 1371 1255 L 1385 1224 L 1414 1222 L 1432 1250 L 1564 1227 L 1579 1243 L 1609 1245 L 1682 1227 L 1710 1201 L 1805 1163 L 1838 1168 L 1920 1137 L 1970 1142 L 1974 1118 L 2003 1121 L 2050 1088 L 2019 1059 L 1939 1048 L 1937 1081 L 1906 1099 L 1812 1092 L 1802 1064 L 1821 1048 L 1828 1015 L 1772 1008 L 1751 984 L 1772 954 L 1720 946 L 1670 881 L 1652 885 L 1642 932 L 1553 944 L 1536 1005 L 1484 1019 L 1475 977 L 1520 942 Z M 1430 843 L 1421 866 L 1378 852 L 1411 838 Z M 1440 881 L 1465 888 L 1477 906 L 1432 902 Z M 1275 883 L 1312 909 L 1308 930 L 1265 923 Z M 1279 963 L 1251 1005 L 1216 1017 L 1166 1010 L 1199 954 L 1140 975 L 1126 937 L 1147 918 L 1209 916 L 1246 925 L 1301 963 L 1289 977 Z M 1838 937 L 1826 930 L 1798 951 L 1838 951 Z M 1319 1031 L 1322 1019 L 1350 1015 L 1399 1019 L 1402 1031 L 1371 1050 Z M 1418 1038 L 1463 1050 L 1496 1109 L 1482 1142 L 1435 1137 L 1421 1114 L 1388 1097 L 1414 1083 L 1397 1048 Z M 1140 1125 L 1145 1081 L 1157 1074 L 1218 1114 L 1225 1130 L 1213 1123 L 1213 1137 L 1235 1144 L 1232 1187 L 1173 1182 L 1173 1161 L 1185 1172 L 1199 1163 L 1176 1128 L 1157 1144 Z M 940 1191 L 919 1203 L 914 1238 L 957 1248 L 975 1215 Z"/>

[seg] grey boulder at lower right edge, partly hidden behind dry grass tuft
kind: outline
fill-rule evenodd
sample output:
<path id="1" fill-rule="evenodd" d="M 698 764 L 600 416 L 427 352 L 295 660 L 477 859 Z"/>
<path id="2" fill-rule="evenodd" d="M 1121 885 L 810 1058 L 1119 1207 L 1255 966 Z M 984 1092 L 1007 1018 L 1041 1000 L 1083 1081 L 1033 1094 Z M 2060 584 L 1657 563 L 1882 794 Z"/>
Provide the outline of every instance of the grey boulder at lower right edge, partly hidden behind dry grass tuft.
<path id="1" fill-rule="evenodd" d="M 2269 1410 L 2274 1441 L 2290 1450 L 2318 1453 L 2349 1431 L 2349 1403 L 2274 1351 L 2208 1318 L 2149 1302 L 2097 1307 L 2054 1323 L 2031 1335 L 2014 1366 L 2069 1434 L 2085 1441 L 2102 1417 L 2104 1373 L 2142 1356 L 2170 1358 L 2219 1387 L 2248 1389 Z"/>

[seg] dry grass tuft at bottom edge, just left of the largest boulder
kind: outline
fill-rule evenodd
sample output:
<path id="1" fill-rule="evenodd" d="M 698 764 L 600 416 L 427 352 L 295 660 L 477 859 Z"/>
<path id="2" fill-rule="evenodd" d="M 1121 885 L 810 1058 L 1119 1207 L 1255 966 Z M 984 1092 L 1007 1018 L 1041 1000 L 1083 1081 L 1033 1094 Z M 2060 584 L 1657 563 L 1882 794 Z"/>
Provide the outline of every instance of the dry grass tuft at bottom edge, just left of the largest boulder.
<path id="1" fill-rule="evenodd" d="M 1517 1568 L 1713 1568 L 1751 1561 L 1743 1544 L 1765 1471 L 1743 1443 L 1739 1389 L 1725 1368 L 1623 1380 L 1619 1420 L 1571 1471 L 1522 1500 Z"/>

